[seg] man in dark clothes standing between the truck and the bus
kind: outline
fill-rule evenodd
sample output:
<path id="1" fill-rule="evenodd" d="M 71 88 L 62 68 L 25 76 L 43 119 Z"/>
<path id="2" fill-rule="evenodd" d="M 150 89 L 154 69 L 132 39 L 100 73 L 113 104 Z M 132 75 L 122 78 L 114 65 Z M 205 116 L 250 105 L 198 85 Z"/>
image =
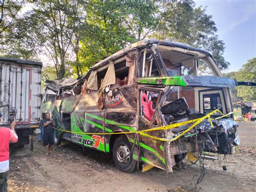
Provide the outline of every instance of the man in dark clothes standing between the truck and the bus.
<path id="1" fill-rule="evenodd" d="M 46 148 L 45 155 L 49 155 L 51 152 L 51 146 L 53 145 L 53 128 L 55 126 L 53 119 L 50 119 L 50 113 L 45 113 L 45 119 L 43 120 L 44 133 L 43 133 L 43 146 Z"/>

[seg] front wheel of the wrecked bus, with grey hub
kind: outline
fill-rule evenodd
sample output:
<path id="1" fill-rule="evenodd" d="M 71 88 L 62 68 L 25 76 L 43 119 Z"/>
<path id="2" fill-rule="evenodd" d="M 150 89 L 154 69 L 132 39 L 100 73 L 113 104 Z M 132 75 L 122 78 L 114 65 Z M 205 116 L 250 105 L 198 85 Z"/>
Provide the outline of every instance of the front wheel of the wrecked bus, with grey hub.
<path id="1" fill-rule="evenodd" d="M 117 168 L 125 173 L 133 172 L 136 161 L 132 159 L 131 145 L 125 136 L 119 136 L 113 145 L 113 159 Z"/>

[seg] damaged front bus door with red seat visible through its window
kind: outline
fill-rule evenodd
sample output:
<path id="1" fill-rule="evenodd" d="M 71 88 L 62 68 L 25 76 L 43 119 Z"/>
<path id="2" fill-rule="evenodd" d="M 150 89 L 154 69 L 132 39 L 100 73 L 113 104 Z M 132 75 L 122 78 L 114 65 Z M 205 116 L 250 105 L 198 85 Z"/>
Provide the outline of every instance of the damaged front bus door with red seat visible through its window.
<path id="1" fill-rule="evenodd" d="M 160 115 L 157 115 L 159 111 L 159 102 L 161 99 L 161 91 L 154 88 L 142 88 L 139 89 L 139 131 L 158 127 L 161 124 Z M 158 125 L 159 124 L 159 125 Z M 146 132 L 150 136 L 156 138 L 163 138 L 163 131 Z M 139 148 L 140 148 L 140 160 L 144 162 L 144 167 L 158 167 L 166 169 L 165 154 L 164 154 L 164 141 L 152 139 L 149 136 L 139 134 Z M 148 169 L 148 168 L 144 168 Z"/>

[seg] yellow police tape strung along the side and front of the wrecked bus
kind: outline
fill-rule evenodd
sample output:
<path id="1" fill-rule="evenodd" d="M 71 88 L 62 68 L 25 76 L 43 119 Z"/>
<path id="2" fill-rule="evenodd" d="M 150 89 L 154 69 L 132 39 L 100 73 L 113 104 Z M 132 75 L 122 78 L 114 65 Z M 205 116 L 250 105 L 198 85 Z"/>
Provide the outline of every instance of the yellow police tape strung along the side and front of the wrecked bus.
<path id="1" fill-rule="evenodd" d="M 171 124 L 171 125 L 166 125 L 166 126 L 162 126 L 162 127 L 146 129 L 146 130 L 143 130 L 143 131 L 130 131 L 130 132 L 118 132 L 118 133 L 84 133 L 84 132 L 81 133 L 81 132 L 66 131 L 66 130 L 57 129 L 57 128 L 54 128 L 54 129 L 57 129 L 58 131 L 62 131 L 62 132 L 86 134 L 86 135 L 114 135 L 114 134 L 134 134 L 134 133 L 138 133 L 140 135 L 143 135 L 143 136 L 146 136 L 146 137 L 149 137 L 149 138 L 152 138 L 152 139 L 156 139 L 156 140 L 159 140 L 159 141 L 170 141 L 170 142 L 172 142 L 172 141 L 175 141 L 175 140 L 179 139 L 181 136 L 183 136 L 185 133 L 189 132 L 192 128 L 196 127 L 198 124 L 200 124 L 200 122 L 204 121 L 207 118 L 210 121 L 211 126 L 213 127 L 211 115 L 216 113 L 216 112 L 222 114 L 223 116 L 220 116 L 220 117 L 215 118 L 215 119 L 220 119 L 220 118 L 223 118 L 224 116 L 230 116 L 233 113 L 233 112 L 230 112 L 230 113 L 225 115 L 219 109 L 215 109 L 214 111 L 212 111 L 212 112 L 208 113 L 207 115 L 205 115 L 201 118 L 198 118 L 198 119 L 179 122 L 177 124 Z M 153 131 L 159 131 L 159 130 L 173 129 L 173 128 L 183 126 L 183 125 L 186 125 L 186 124 L 191 124 L 192 122 L 195 122 L 195 123 L 192 126 L 188 127 L 183 133 L 179 134 L 178 136 L 176 136 L 173 139 L 157 138 L 155 136 L 151 136 L 151 135 L 145 133 L 145 132 L 153 132 Z"/>

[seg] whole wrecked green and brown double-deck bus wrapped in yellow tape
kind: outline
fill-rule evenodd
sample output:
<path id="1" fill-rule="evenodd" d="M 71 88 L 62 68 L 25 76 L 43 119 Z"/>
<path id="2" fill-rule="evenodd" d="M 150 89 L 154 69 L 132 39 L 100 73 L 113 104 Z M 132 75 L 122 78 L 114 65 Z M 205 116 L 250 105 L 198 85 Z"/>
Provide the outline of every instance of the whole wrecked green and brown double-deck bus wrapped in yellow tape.
<path id="1" fill-rule="evenodd" d="M 231 154 L 239 145 L 229 92 L 238 84 L 221 76 L 206 51 L 142 40 L 78 79 L 46 85 L 42 113 L 56 121 L 56 144 L 111 153 L 126 173 L 139 164 L 169 173 L 207 159 L 205 152 Z"/>

